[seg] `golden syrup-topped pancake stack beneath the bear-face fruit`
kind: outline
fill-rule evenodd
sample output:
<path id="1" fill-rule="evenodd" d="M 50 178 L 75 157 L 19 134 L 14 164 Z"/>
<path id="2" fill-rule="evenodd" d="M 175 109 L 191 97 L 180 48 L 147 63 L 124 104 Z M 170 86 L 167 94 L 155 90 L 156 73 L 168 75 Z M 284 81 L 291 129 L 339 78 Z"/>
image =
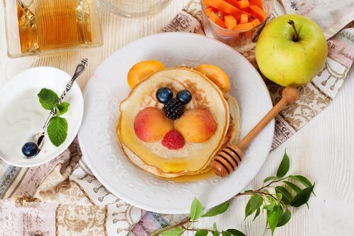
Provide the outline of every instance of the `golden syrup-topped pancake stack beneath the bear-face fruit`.
<path id="1" fill-rule="evenodd" d="M 165 148 L 161 141 L 140 141 L 135 135 L 134 119 L 146 107 L 162 109 L 163 105 L 155 98 L 156 90 L 162 86 L 171 88 L 174 94 L 178 90 L 189 90 L 193 99 L 185 105 L 185 110 L 209 110 L 217 121 L 215 134 L 202 143 L 185 143 L 178 150 Z M 236 113 L 232 111 L 234 117 L 230 116 L 228 103 L 232 107 L 236 104 Z M 238 138 L 239 112 L 236 100 L 229 96 L 227 102 L 221 90 L 198 71 L 186 68 L 164 69 L 147 76 L 121 102 L 117 133 L 127 158 L 142 170 L 161 177 L 196 175 L 209 170 L 210 160 L 225 144 L 225 140 L 231 142 Z"/>

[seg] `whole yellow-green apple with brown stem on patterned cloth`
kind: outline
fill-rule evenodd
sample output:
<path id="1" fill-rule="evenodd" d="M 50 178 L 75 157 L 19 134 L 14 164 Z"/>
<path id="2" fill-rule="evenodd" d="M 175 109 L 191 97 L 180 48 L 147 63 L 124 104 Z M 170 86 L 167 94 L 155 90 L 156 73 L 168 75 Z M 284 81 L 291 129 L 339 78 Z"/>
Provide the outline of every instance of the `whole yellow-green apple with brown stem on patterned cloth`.
<path id="1" fill-rule="evenodd" d="M 263 75 L 282 86 L 304 85 L 323 68 L 327 42 L 319 25 L 299 15 L 271 20 L 259 35 L 256 60 Z"/>

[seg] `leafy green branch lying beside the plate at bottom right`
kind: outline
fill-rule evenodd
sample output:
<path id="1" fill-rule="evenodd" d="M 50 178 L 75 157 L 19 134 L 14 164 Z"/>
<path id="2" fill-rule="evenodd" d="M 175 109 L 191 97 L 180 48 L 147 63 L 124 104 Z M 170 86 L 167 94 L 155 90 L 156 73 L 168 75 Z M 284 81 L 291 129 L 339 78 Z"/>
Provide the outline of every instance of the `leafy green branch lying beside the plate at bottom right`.
<path id="1" fill-rule="evenodd" d="M 234 196 L 251 196 L 246 204 L 244 219 L 254 214 L 253 220 L 255 220 L 260 213 L 264 213 L 265 230 L 270 229 L 272 235 L 275 228 L 282 227 L 289 222 L 290 208 L 298 208 L 307 204 L 310 196 L 314 194 L 314 184 L 302 175 L 287 175 L 289 168 L 290 159 L 285 151 L 275 176 L 266 177 L 263 186 L 259 189 L 246 190 Z M 190 206 L 190 216 L 176 225 L 157 230 L 154 235 L 177 236 L 190 231 L 195 232 L 196 236 L 206 236 L 209 233 L 213 236 L 244 236 L 243 232 L 236 229 L 218 230 L 216 223 L 210 229 L 190 228 L 193 223 L 198 222 L 199 218 L 217 216 L 227 211 L 228 208 L 229 201 L 226 201 L 203 213 L 202 203 L 195 198 Z"/>

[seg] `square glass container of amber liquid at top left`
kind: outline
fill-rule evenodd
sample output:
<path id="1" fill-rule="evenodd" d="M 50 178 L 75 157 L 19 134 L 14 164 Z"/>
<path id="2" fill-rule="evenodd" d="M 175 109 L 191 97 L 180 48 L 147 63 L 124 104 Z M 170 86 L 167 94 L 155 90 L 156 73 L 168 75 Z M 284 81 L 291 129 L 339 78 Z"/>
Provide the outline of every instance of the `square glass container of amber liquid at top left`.
<path id="1" fill-rule="evenodd" d="M 97 0 L 4 0 L 4 11 L 8 57 L 103 43 Z"/>

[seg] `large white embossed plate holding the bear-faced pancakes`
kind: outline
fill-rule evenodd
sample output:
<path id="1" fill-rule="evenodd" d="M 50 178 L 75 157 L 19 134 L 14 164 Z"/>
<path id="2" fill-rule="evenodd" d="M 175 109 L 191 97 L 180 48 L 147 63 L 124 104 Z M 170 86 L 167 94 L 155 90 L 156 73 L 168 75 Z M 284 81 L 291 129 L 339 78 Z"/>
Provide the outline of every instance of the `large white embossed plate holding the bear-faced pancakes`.
<path id="1" fill-rule="evenodd" d="M 122 47 L 103 61 L 86 85 L 84 120 L 79 131 L 83 158 L 113 194 L 139 208 L 159 213 L 188 213 L 194 196 L 206 208 L 227 201 L 246 187 L 270 151 L 274 122 L 251 143 L 241 166 L 229 177 L 178 184 L 157 179 L 127 161 L 115 134 L 120 102 L 130 92 L 127 71 L 138 61 L 158 59 L 166 67 L 215 64 L 230 76 L 241 108 L 241 136 L 272 107 L 261 76 L 231 47 L 201 35 L 163 33 Z"/>

